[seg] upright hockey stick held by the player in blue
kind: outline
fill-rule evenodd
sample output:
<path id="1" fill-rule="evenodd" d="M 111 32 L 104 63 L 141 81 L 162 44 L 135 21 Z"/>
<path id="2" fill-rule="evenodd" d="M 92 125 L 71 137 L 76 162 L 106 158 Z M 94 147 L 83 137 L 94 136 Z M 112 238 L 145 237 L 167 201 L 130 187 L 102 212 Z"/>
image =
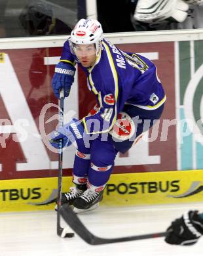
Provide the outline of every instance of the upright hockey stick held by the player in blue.
<path id="1" fill-rule="evenodd" d="M 60 91 L 60 108 L 59 108 L 59 126 L 64 125 L 64 89 Z M 57 234 L 62 238 L 72 238 L 74 233 L 68 233 L 66 228 L 61 226 L 61 201 L 62 201 L 62 177 L 63 177 L 63 148 L 62 139 L 60 139 L 59 149 L 58 149 L 58 195 L 57 195 Z"/>

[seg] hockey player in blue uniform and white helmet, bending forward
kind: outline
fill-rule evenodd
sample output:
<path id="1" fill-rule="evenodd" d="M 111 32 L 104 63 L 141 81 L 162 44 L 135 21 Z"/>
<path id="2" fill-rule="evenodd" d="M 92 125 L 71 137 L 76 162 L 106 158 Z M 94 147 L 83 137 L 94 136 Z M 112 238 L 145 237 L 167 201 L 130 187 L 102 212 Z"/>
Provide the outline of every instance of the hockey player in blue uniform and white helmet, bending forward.
<path id="1" fill-rule="evenodd" d="M 69 96 L 76 63 L 83 68 L 97 105 L 83 120 L 73 119 L 52 132 L 50 143 L 56 148 L 59 139 L 63 139 L 64 146 L 74 140 L 77 143 L 75 186 L 62 194 L 62 203 L 73 204 L 79 211 L 98 206 L 117 152 L 129 150 L 138 136 L 160 118 L 166 96 L 155 64 L 136 53 L 120 51 L 103 38 L 97 20 L 79 20 L 64 43 L 52 79 L 58 98 L 62 88 Z"/>

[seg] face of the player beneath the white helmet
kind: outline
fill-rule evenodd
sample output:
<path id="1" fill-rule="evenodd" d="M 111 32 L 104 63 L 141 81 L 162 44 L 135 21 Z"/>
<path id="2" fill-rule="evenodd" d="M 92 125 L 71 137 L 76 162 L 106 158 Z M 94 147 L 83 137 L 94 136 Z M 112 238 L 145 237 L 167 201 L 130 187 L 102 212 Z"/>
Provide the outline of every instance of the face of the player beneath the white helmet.
<path id="1" fill-rule="evenodd" d="M 94 43 L 91 45 L 75 45 L 74 51 L 84 68 L 94 65 L 96 60 L 96 48 Z"/>

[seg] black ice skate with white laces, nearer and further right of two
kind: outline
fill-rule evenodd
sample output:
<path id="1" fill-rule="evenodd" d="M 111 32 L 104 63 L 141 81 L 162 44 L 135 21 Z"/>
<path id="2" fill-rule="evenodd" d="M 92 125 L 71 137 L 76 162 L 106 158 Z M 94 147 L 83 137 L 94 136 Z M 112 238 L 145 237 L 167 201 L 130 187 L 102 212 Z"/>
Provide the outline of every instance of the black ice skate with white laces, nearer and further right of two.
<path id="1" fill-rule="evenodd" d="M 103 186 L 102 190 L 101 188 L 90 186 L 90 188 L 85 190 L 81 196 L 74 200 L 73 211 L 75 213 L 81 213 L 96 209 L 103 199 L 103 191 Z"/>

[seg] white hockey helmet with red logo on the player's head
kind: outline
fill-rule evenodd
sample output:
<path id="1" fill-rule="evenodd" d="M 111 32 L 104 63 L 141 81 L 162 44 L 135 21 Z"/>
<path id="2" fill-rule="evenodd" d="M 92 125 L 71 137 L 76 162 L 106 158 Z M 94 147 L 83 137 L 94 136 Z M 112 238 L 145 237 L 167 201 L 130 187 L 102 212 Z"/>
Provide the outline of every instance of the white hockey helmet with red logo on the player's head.
<path id="1" fill-rule="evenodd" d="M 77 22 L 75 28 L 71 32 L 69 38 L 70 47 L 73 45 L 90 45 L 92 43 L 96 46 L 96 55 L 100 53 L 102 49 L 103 30 L 102 25 L 98 20 L 84 20 L 82 18 Z"/>

